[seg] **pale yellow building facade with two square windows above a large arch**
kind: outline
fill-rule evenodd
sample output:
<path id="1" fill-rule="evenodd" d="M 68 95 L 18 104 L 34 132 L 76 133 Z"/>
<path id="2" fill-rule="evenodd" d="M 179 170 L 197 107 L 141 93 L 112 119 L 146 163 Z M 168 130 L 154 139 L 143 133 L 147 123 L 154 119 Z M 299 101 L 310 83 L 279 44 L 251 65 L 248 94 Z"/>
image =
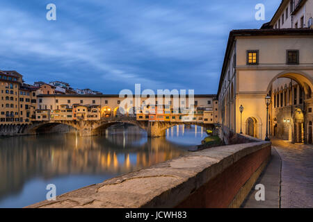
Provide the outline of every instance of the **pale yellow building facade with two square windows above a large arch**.
<path id="1" fill-rule="evenodd" d="M 219 121 L 225 139 L 241 130 L 259 139 L 266 137 L 267 94 L 271 95 L 268 136 L 273 137 L 274 126 L 278 123 L 273 104 L 278 89 L 281 89 L 275 81 L 288 78 L 299 86 L 296 88 L 298 95 L 300 89 L 303 92 L 303 104 L 293 104 L 291 140 L 312 143 L 312 49 L 313 30 L 309 28 L 238 30 L 230 33 L 218 89 Z M 242 114 L 239 110 L 241 105 Z M 295 124 L 298 122 L 296 111 L 303 114 L 301 126 Z M 297 133 L 300 131 L 303 131 L 303 140 L 298 138 L 301 137 Z"/>

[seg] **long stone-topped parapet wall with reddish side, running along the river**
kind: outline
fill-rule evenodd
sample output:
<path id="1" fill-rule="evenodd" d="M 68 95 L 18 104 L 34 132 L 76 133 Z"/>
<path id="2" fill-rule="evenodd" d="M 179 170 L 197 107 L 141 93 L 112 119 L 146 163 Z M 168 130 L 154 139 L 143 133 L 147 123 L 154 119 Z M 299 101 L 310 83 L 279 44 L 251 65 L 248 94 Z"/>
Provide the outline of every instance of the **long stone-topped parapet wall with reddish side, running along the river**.
<path id="1" fill-rule="evenodd" d="M 239 207 L 271 142 L 209 148 L 29 207 Z"/>

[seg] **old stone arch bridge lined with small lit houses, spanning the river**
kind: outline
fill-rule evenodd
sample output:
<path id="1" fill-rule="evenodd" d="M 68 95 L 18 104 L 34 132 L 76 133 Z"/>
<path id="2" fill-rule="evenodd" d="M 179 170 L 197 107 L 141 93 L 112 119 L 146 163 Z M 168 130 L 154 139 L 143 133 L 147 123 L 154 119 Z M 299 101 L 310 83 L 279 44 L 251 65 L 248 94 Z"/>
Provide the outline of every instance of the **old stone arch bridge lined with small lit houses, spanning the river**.
<path id="1" fill-rule="evenodd" d="M 63 124 L 75 128 L 81 136 L 102 135 L 116 123 L 129 123 L 147 131 L 149 137 L 163 137 L 166 130 L 177 125 L 196 125 L 213 130 L 218 121 L 215 95 L 194 95 L 179 98 L 181 108 L 175 109 L 174 96 L 157 99 L 139 98 L 141 110 L 132 105 L 121 109 L 126 98 L 119 95 L 39 95 L 38 108 L 29 124 L 0 126 L 0 135 L 49 132 Z M 131 103 L 131 102 L 130 102 Z M 160 105 L 164 104 L 164 105 Z"/>

